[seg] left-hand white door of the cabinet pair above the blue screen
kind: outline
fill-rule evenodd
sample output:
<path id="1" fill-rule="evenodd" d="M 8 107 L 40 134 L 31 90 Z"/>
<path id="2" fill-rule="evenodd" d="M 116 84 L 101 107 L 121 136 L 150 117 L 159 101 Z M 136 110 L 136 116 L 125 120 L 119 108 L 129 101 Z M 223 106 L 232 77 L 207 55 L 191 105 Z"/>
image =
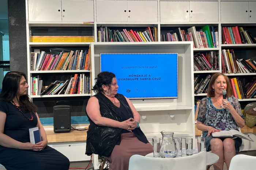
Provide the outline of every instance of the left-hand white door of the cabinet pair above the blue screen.
<path id="1" fill-rule="evenodd" d="M 96 0 L 97 22 L 127 22 L 127 1 Z"/>

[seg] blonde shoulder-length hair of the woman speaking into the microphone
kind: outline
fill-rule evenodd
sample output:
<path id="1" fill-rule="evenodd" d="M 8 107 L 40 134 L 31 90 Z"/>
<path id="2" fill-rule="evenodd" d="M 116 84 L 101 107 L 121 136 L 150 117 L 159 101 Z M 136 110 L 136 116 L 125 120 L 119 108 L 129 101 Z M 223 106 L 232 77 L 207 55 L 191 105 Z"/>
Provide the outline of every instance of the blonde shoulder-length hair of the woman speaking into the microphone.
<path id="1" fill-rule="evenodd" d="M 210 82 L 209 82 L 209 86 L 208 86 L 208 90 L 207 90 L 207 96 L 208 97 L 214 97 L 215 96 L 215 92 L 213 91 L 213 88 L 212 88 L 212 85 L 215 83 L 215 80 L 219 77 L 219 76 L 223 76 L 226 80 L 226 83 L 227 83 L 227 98 L 231 97 L 233 95 L 233 90 L 231 89 L 231 85 L 230 85 L 230 82 L 229 82 L 229 78 L 224 75 L 223 73 L 215 73 L 211 79 L 210 79 Z"/>

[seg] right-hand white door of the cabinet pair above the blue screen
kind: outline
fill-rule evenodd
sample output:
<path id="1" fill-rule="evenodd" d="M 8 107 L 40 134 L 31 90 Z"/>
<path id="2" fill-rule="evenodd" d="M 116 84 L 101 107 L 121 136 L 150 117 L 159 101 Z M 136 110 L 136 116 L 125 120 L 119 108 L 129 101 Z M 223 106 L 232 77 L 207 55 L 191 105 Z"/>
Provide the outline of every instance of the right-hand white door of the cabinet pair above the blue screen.
<path id="1" fill-rule="evenodd" d="M 127 1 L 128 22 L 157 22 L 157 1 Z"/>

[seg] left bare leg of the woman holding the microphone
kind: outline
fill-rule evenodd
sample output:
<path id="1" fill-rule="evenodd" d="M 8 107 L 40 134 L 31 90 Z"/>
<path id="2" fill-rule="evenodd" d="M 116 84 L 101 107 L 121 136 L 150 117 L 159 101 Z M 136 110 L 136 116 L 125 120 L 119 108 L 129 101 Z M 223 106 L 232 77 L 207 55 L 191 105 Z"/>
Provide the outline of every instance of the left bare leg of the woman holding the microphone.
<path id="1" fill-rule="evenodd" d="M 214 170 L 223 170 L 224 154 L 223 154 L 223 142 L 219 138 L 213 138 L 210 141 L 210 149 L 212 153 L 219 156 L 219 161 L 213 164 Z"/>

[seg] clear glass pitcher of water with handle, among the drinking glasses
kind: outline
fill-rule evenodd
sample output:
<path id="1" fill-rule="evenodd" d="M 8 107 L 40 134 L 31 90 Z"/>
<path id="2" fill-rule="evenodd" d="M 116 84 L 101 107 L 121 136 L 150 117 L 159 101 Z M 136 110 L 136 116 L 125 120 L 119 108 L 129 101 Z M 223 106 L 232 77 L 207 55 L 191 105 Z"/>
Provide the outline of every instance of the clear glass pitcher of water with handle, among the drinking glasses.
<path id="1" fill-rule="evenodd" d="M 178 150 L 175 146 L 174 143 L 174 139 L 177 139 L 177 141 L 180 143 L 181 146 L 181 142 L 179 138 L 174 138 L 173 137 L 173 132 L 166 132 L 166 131 L 162 131 L 162 143 L 160 146 L 160 151 L 159 154 L 161 156 L 161 158 L 173 158 L 176 157 L 178 154 Z"/>

